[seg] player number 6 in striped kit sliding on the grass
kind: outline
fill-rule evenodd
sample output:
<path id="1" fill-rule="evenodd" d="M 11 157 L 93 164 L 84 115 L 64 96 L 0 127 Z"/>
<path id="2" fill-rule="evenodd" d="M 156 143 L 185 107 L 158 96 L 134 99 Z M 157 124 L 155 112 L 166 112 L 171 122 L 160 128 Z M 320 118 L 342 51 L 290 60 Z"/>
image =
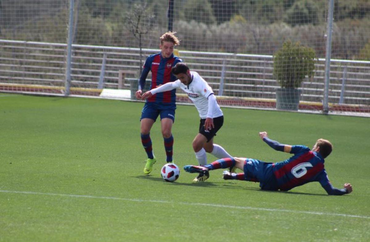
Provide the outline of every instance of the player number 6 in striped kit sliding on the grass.
<path id="1" fill-rule="evenodd" d="M 325 139 L 318 139 L 312 151 L 304 145 L 283 145 L 268 138 L 267 132 L 260 132 L 260 138 L 276 151 L 294 154 L 282 162 L 269 163 L 250 158 L 219 159 L 205 166 L 184 166 L 186 172 L 199 173 L 209 177 L 208 170 L 237 167 L 243 173 L 223 172 L 223 179 L 259 182 L 262 190 L 288 191 L 309 182 L 319 182 L 329 195 L 343 195 L 352 192 L 352 186 L 345 183 L 343 189 L 337 189 L 330 183 L 324 159 L 332 152 L 332 144 Z"/>

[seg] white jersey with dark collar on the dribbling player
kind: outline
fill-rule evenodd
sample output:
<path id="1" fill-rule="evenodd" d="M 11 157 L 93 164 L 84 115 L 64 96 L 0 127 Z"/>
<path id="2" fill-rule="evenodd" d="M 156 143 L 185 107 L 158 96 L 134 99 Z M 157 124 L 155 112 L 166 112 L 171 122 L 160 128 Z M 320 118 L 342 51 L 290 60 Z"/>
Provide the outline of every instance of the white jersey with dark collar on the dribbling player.
<path id="1" fill-rule="evenodd" d="M 181 88 L 183 91 L 185 91 L 198 110 L 199 116 L 202 119 L 207 118 L 208 97 L 209 95 L 213 94 L 213 90 L 197 72 L 191 71 L 190 74 L 192 76 L 192 81 L 189 85 L 182 84 L 180 80 L 176 80 L 172 84 L 172 87 Z M 210 114 L 212 116 L 210 118 L 217 118 L 223 115 L 222 110 L 217 102 L 215 103 Z"/>

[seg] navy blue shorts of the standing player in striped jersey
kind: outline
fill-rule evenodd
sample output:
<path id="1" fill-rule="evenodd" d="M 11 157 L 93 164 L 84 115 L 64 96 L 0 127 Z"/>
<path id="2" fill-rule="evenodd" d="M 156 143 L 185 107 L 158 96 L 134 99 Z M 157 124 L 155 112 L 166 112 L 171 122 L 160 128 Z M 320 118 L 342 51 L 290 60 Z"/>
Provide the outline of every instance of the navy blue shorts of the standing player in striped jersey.
<path id="1" fill-rule="evenodd" d="M 175 109 L 175 106 L 158 107 L 158 105 L 155 103 L 145 103 L 141 111 L 140 120 L 142 120 L 143 118 L 150 118 L 156 121 L 158 115 L 160 115 L 161 120 L 162 118 L 170 118 L 173 122 L 175 122 Z"/>

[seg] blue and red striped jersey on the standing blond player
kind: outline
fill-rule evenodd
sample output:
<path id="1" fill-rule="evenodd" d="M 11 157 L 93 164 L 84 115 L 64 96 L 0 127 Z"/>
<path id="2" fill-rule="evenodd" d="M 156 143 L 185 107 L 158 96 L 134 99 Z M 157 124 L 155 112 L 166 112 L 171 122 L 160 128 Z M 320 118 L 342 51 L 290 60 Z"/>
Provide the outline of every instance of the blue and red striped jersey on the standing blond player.
<path id="1" fill-rule="evenodd" d="M 147 78 L 149 71 L 152 72 L 152 82 L 149 90 L 159 86 L 160 84 L 177 80 L 177 78 L 171 73 L 171 69 L 172 66 L 176 65 L 178 62 L 182 62 L 182 60 L 173 53 L 169 58 L 163 58 L 161 53 L 149 55 L 145 60 L 144 69 L 140 76 L 139 88 L 141 90 L 144 89 L 145 79 Z M 161 105 L 175 105 L 176 89 L 154 94 L 151 98 L 147 99 L 147 102 Z"/>

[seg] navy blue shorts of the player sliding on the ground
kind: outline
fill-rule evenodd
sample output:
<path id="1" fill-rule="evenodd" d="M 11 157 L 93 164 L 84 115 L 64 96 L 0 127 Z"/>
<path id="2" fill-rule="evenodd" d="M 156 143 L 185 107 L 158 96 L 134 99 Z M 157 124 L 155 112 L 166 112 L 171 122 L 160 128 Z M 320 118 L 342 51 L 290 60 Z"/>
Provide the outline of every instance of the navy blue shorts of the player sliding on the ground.
<path id="1" fill-rule="evenodd" d="M 272 170 L 273 163 L 246 158 L 244 162 L 244 178 L 247 181 L 259 182 L 262 190 L 276 191 L 279 189 Z"/>

